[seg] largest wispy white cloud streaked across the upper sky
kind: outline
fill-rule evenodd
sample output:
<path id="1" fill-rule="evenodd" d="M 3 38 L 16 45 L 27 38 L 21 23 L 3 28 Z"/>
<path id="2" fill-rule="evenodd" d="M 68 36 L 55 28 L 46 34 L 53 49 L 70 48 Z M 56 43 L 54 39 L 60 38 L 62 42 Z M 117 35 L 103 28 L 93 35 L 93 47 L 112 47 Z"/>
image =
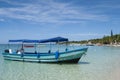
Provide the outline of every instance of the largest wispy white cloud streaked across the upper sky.
<path id="1" fill-rule="evenodd" d="M 39 1 L 36 3 L 17 3 L 6 1 L 21 7 L 0 8 L 0 16 L 42 23 L 80 23 L 85 20 L 106 21 L 106 15 L 88 13 L 82 7 L 71 3 Z"/>

